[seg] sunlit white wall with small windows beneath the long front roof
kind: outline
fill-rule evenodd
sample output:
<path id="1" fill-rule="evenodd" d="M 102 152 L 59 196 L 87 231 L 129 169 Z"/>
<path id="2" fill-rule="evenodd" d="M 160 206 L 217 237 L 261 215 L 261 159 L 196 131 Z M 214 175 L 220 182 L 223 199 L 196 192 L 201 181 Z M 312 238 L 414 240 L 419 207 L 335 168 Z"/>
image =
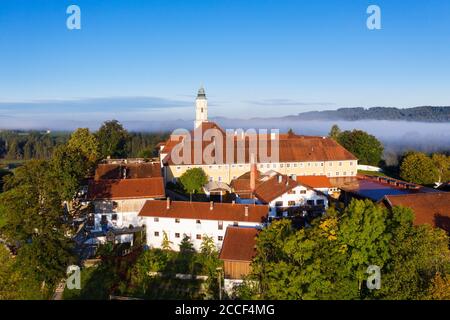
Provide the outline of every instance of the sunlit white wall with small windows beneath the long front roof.
<path id="1" fill-rule="evenodd" d="M 200 220 L 200 224 L 197 224 L 195 219 L 180 219 L 179 223 L 175 222 L 175 218 L 158 218 L 159 221 L 154 221 L 155 217 L 145 217 L 144 222 L 146 225 L 147 245 L 152 248 L 161 248 L 163 241 L 163 233 L 166 232 L 171 248 L 175 251 L 179 251 L 180 243 L 183 240 L 183 235 L 186 234 L 191 238 L 191 242 L 194 245 L 195 250 L 199 251 L 202 240 L 196 238 L 197 234 L 212 237 L 218 250 L 222 248 L 223 239 L 225 237 L 225 231 L 228 226 L 232 226 L 234 221 L 223 221 L 223 228 L 219 230 L 218 220 Z M 256 227 L 261 226 L 261 223 L 257 222 L 238 222 L 239 226 Z M 159 236 L 155 236 L 155 232 L 159 232 Z M 179 238 L 176 237 L 176 233 L 179 233 Z M 219 236 L 222 240 L 219 240 Z"/>

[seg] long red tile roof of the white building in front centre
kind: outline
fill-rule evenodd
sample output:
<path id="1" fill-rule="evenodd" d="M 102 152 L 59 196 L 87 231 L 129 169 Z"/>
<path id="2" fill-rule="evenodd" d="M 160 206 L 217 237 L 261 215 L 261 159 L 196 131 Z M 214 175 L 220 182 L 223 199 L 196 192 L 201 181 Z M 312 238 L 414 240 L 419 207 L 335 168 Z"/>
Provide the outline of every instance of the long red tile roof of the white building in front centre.
<path id="1" fill-rule="evenodd" d="M 261 223 L 269 213 L 266 205 L 213 203 L 212 210 L 210 206 L 209 202 L 149 200 L 145 202 L 139 216 Z M 248 208 L 247 216 L 245 208 Z"/>

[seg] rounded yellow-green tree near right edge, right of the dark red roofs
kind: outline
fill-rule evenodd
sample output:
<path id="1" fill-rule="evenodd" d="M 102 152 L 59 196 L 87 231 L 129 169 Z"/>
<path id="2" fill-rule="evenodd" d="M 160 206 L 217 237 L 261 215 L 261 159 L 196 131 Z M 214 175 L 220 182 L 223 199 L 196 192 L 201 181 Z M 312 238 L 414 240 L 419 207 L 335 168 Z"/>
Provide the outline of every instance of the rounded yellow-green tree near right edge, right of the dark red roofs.
<path id="1" fill-rule="evenodd" d="M 400 177 L 409 182 L 433 184 L 438 176 L 433 160 L 422 152 L 407 153 L 400 165 Z"/>

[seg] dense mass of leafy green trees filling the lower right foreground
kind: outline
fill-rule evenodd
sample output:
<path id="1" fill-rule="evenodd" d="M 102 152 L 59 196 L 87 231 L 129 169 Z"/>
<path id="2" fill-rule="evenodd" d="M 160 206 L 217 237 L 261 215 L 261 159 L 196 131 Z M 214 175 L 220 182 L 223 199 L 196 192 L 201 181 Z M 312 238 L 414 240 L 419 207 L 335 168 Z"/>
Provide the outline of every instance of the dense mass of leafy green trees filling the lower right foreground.
<path id="1" fill-rule="evenodd" d="M 440 229 L 415 226 L 413 217 L 407 208 L 388 210 L 353 200 L 342 212 L 329 209 L 298 231 L 289 221 L 274 222 L 259 234 L 252 262 L 249 279 L 259 280 L 260 290 L 244 288 L 242 294 L 263 299 L 426 299 L 437 286 L 436 274 L 448 276 L 449 238 Z M 380 290 L 366 286 L 370 265 L 381 268 Z M 445 283 L 438 287 L 442 292 Z"/>

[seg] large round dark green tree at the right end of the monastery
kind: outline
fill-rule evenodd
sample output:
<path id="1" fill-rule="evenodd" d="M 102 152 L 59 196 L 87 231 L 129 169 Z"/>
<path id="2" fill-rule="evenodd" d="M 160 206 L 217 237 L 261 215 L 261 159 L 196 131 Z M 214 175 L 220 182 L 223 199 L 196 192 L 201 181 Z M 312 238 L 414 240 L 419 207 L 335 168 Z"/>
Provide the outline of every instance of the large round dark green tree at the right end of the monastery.
<path id="1" fill-rule="evenodd" d="M 338 135 L 337 142 L 353 153 L 360 164 L 380 164 L 384 148 L 373 135 L 362 130 L 344 131 Z"/>

